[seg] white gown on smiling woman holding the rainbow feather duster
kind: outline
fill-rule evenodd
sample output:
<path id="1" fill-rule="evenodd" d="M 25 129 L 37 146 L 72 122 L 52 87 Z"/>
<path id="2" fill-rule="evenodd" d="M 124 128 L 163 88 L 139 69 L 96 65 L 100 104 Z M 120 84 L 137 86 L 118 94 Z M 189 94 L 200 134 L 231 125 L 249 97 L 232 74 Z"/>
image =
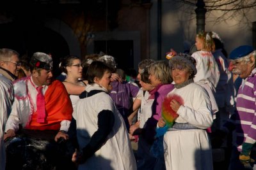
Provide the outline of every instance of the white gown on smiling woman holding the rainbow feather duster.
<path id="1" fill-rule="evenodd" d="M 212 125 L 211 101 L 200 85 L 190 83 L 170 94 L 182 97 L 175 120 L 189 123 L 188 129 L 169 129 L 164 134 L 164 159 L 166 169 L 175 170 L 212 170 L 211 144 L 204 129 Z"/>

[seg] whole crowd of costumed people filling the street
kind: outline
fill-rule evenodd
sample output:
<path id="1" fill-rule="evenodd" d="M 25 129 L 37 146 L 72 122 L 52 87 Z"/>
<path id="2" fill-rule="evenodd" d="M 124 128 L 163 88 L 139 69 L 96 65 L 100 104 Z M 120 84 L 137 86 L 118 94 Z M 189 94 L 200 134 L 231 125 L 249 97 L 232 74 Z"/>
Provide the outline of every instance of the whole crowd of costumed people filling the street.
<path id="1" fill-rule="evenodd" d="M 104 53 L 65 56 L 54 78 L 51 55 L 0 49 L 0 170 L 211 170 L 228 147 L 223 169 L 256 169 L 256 50 L 228 55 L 216 32 L 195 46 L 136 78 Z"/>

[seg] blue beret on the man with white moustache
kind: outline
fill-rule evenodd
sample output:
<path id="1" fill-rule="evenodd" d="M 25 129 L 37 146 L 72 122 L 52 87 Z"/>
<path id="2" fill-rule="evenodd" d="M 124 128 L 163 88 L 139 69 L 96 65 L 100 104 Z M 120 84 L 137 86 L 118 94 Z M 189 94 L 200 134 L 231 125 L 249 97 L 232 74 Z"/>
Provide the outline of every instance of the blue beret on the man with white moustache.
<path id="1" fill-rule="evenodd" d="M 236 49 L 234 49 L 230 53 L 229 59 L 231 59 L 231 60 L 240 59 L 241 57 L 244 57 L 244 56 L 250 54 L 251 52 L 253 52 L 253 48 L 250 45 L 238 46 Z"/>

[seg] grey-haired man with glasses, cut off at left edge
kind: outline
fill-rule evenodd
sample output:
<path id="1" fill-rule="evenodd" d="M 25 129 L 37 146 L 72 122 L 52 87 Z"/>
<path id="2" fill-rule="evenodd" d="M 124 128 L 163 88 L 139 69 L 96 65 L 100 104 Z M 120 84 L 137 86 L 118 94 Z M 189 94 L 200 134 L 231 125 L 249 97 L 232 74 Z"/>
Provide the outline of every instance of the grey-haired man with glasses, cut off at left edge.
<path id="1" fill-rule="evenodd" d="M 0 170 L 5 169 L 4 126 L 12 110 L 15 71 L 19 66 L 19 53 L 15 50 L 0 49 Z"/>

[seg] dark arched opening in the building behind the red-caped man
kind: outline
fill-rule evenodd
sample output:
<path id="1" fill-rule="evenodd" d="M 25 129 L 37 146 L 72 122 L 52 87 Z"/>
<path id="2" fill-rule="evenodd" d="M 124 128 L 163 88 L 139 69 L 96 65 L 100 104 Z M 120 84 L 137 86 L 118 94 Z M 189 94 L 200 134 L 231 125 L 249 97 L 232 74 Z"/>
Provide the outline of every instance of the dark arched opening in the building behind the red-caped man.
<path id="1" fill-rule="evenodd" d="M 51 53 L 54 76 L 60 74 L 60 58 L 70 54 L 67 41 L 58 32 L 42 25 L 1 24 L 0 37 L 0 48 L 17 50 L 20 55 L 31 57 L 34 52 Z"/>

